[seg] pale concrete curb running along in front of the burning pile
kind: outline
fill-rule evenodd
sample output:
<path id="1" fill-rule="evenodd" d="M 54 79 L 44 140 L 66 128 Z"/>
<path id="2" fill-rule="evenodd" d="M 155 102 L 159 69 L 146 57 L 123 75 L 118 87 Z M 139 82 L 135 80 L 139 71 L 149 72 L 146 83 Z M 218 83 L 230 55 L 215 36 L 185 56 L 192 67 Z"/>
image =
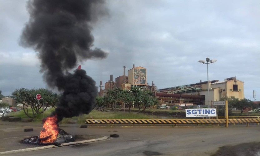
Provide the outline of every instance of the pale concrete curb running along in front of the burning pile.
<path id="1" fill-rule="evenodd" d="M 27 148 L 27 149 L 17 149 L 17 150 L 12 150 L 12 151 L 5 151 L 5 152 L 0 152 L 0 155 L 2 155 L 2 154 L 13 154 L 13 153 L 18 153 L 18 152 L 35 151 L 35 150 L 40 150 L 40 149 L 50 149 L 50 148 L 61 147 L 61 146 L 89 143 L 89 142 L 100 141 L 100 140 L 105 140 L 105 139 L 108 139 L 108 136 L 103 136 L 102 138 L 97 138 L 97 139 L 89 139 L 89 140 L 82 140 L 82 141 L 64 143 L 64 144 L 60 144 L 59 146 L 48 145 L 48 146 L 33 147 L 33 148 Z"/>

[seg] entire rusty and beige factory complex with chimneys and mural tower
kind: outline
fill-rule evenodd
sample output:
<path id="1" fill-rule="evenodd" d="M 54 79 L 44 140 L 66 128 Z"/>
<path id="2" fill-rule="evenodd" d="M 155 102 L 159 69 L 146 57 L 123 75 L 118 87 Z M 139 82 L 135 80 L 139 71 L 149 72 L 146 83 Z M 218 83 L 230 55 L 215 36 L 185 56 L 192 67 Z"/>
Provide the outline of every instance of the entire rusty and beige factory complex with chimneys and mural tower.
<path id="1" fill-rule="evenodd" d="M 208 83 L 209 83 L 209 99 L 208 99 Z M 113 80 L 113 75 L 110 75 L 110 80 L 105 82 L 103 86 L 100 81 L 100 92 L 103 96 L 107 90 L 120 88 L 128 90 L 131 87 L 140 88 L 142 90 L 150 90 L 154 92 L 159 99 L 159 104 L 173 105 L 207 105 L 206 101 L 219 101 L 223 98 L 234 96 L 241 100 L 244 98 L 244 82 L 235 77 L 225 78 L 222 81 L 209 80 L 198 83 L 191 83 L 188 85 L 173 86 L 169 88 L 157 89 L 154 82 L 151 85 L 147 83 L 147 70 L 144 67 L 135 67 L 128 70 L 128 76 L 124 73 Z M 103 88 L 105 89 L 103 90 Z"/>

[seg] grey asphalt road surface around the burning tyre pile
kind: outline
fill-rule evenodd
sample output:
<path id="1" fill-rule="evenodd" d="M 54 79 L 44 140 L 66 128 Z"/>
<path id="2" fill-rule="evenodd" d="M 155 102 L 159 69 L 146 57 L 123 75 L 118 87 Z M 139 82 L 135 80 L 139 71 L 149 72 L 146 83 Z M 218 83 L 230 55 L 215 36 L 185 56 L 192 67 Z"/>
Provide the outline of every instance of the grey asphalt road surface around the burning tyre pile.
<path id="1" fill-rule="evenodd" d="M 21 147 L 17 140 L 24 136 L 38 135 L 41 125 L 33 132 L 23 132 L 21 125 L 0 125 L 0 142 L 9 144 L 11 150 Z M 225 127 L 112 127 L 87 128 L 62 127 L 70 134 L 106 135 L 119 134 L 119 138 L 103 141 L 10 154 L 21 155 L 212 155 L 219 147 L 243 143 L 259 144 L 260 126 Z M 20 138 L 14 138 L 20 137 Z M 7 139 L 14 138 L 14 139 Z M 22 145 L 30 148 L 29 145 Z M 244 144 L 243 146 L 247 146 Z M 1 149 L 0 149 L 1 151 Z M 6 149 L 5 149 L 6 151 Z M 255 154 L 258 151 L 254 151 Z M 260 153 L 259 153 L 260 154 Z M 238 154 L 239 155 L 239 154 Z M 245 155 L 245 154 L 242 154 Z"/>

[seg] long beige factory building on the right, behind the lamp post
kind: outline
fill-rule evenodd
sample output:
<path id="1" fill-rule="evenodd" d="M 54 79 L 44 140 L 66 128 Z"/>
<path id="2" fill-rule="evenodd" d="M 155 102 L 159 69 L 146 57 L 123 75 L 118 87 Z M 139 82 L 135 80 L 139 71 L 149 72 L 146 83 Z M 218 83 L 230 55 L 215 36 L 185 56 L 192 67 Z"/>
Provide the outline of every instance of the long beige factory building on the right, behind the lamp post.
<path id="1" fill-rule="evenodd" d="M 162 98 L 164 93 L 168 93 L 168 98 Z M 169 105 L 174 105 L 174 103 L 182 105 L 207 105 L 207 101 L 209 101 L 209 104 L 211 105 L 212 101 L 219 101 L 222 98 L 230 96 L 234 96 L 235 98 L 238 98 L 238 100 L 243 99 L 244 82 L 237 80 L 236 77 L 230 77 L 223 81 L 209 81 L 209 100 L 207 81 L 159 89 L 157 90 L 157 96 L 158 95 L 161 96 L 160 100 L 169 103 Z M 184 95 L 186 97 L 184 97 Z M 190 97 L 187 97 L 187 95 L 190 95 Z M 171 96 L 171 98 L 169 98 L 169 96 Z"/>

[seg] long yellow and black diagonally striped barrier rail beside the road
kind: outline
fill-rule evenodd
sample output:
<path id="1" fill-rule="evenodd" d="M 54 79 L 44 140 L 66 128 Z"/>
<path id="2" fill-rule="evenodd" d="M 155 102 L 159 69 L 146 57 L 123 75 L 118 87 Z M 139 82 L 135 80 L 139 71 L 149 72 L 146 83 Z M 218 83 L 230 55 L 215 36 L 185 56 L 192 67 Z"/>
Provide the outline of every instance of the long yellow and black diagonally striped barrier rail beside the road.
<path id="1" fill-rule="evenodd" d="M 86 124 L 224 124 L 225 119 L 86 119 Z M 260 119 L 228 119 L 228 123 L 260 123 Z"/>

